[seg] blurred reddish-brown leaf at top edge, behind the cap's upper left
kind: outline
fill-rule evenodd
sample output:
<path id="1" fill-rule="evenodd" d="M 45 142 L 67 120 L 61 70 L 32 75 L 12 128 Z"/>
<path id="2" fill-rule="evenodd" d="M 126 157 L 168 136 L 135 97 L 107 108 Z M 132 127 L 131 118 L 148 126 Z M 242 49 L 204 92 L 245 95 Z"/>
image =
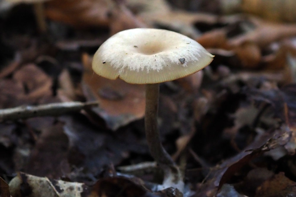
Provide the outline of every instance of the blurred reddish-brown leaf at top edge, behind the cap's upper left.
<path id="1" fill-rule="evenodd" d="M 147 27 L 122 2 L 111 0 L 54 0 L 47 3 L 47 16 L 75 27 L 109 27 L 110 34 Z"/>

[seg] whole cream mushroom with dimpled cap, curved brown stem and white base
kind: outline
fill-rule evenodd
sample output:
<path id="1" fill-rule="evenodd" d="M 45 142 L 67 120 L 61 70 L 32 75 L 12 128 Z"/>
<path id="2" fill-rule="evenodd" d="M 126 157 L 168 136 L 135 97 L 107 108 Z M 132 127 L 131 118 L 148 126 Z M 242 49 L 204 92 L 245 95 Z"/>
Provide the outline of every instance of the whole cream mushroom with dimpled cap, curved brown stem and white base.
<path id="1" fill-rule="evenodd" d="M 150 153 L 163 168 L 163 188 L 182 191 L 178 167 L 165 151 L 157 126 L 159 84 L 200 71 L 213 60 L 199 43 L 177 32 L 136 28 L 116 33 L 94 54 L 94 72 L 108 79 L 146 84 L 145 132 Z M 180 186 L 181 184 L 181 186 Z"/>

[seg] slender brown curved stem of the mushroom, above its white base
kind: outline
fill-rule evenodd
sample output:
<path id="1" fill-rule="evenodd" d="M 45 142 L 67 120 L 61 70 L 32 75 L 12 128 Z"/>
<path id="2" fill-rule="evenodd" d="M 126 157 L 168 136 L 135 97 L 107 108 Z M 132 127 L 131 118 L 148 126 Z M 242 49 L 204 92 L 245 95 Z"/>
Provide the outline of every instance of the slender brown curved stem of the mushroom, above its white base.
<path id="1" fill-rule="evenodd" d="M 160 141 L 157 126 L 159 84 L 146 84 L 145 132 L 150 153 L 159 165 L 176 166 Z"/>

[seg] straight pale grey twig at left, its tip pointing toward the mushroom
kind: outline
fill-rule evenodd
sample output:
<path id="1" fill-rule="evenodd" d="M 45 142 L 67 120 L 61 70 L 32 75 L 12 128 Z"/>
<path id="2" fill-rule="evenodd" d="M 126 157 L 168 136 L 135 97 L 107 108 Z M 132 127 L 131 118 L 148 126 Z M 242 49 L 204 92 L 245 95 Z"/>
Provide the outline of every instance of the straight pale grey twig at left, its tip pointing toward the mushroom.
<path id="1" fill-rule="evenodd" d="M 32 118 L 37 116 L 59 116 L 70 112 L 80 111 L 83 108 L 97 106 L 98 102 L 62 102 L 37 106 L 19 106 L 0 110 L 0 122 Z"/>

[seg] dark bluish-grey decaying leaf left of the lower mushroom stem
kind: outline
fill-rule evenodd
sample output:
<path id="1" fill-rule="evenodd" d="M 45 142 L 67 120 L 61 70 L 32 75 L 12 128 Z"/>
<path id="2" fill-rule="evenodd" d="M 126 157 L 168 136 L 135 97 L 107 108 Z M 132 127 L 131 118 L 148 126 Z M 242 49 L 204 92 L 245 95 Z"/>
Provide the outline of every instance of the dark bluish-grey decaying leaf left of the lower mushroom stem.
<path id="1" fill-rule="evenodd" d="M 86 126 L 78 119 L 60 119 L 65 121 L 64 131 L 69 138 L 68 160 L 70 164 L 82 167 L 87 175 L 101 173 L 110 163 L 118 165 L 131 151 L 148 152 L 130 132 L 122 131 L 115 137 L 110 132 L 98 132 L 97 128 Z"/>

